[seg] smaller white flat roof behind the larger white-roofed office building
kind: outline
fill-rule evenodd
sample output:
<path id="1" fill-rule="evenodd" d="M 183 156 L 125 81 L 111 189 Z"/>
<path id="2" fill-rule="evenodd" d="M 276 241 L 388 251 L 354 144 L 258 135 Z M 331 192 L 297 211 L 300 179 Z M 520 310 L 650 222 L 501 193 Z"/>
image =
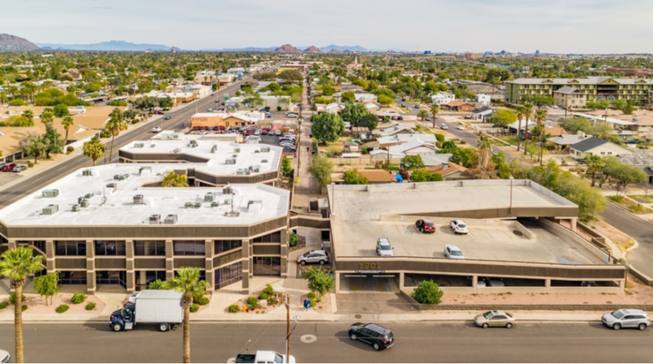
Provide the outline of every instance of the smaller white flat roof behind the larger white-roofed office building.
<path id="1" fill-rule="evenodd" d="M 191 146 L 191 140 L 195 140 L 197 147 Z M 136 145 L 142 144 L 142 148 Z M 216 146 L 215 153 L 212 150 Z M 261 148 L 269 148 L 269 152 L 261 153 Z M 240 149 L 236 153 L 236 149 Z M 177 150 L 177 152 L 175 152 Z M 265 144 L 238 144 L 229 141 L 214 141 L 207 139 L 185 139 L 185 140 L 151 140 L 134 141 L 128 146 L 120 148 L 134 154 L 187 154 L 204 158 L 207 163 L 200 163 L 195 170 L 208 173 L 214 176 L 237 175 L 238 170 L 247 170 L 250 167 L 258 167 L 259 172 L 252 172 L 251 175 L 268 173 L 279 170 L 283 148 Z M 258 153 L 257 153 L 258 152 Z M 236 158 L 233 155 L 237 155 Z M 235 159 L 235 164 L 227 164 L 226 160 Z M 266 160 L 266 162 L 264 162 Z"/>

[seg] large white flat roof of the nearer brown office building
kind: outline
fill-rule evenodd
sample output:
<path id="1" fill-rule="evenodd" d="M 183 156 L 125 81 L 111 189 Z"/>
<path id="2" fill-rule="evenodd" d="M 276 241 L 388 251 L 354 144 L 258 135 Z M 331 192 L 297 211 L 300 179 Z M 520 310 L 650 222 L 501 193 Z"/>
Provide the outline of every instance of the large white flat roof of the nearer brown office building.
<path id="1" fill-rule="evenodd" d="M 151 168 L 151 172 L 141 174 L 139 170 L 144 167 Z M 225 216 L 231 211 L 231 205 L 225 205 L 224 200 L 231 199 L 231 195 L 223 195 L 221 187 L 143 187 L 161 181 L 161 175 L 174 169 L 175 165 L 143 163 L 83 168 L 0 210 L 0 222 L 7 226 L 143 225 L 149 223 L 152 215 L 161 215 L 163 221 L 166 216 L 176 214 L 176 225 L 253 225 L 288 213 L 289 191 L 265 184 L 233 185 L 233 209 L 240 212 L 238 217 Z M 83 170 L 91 170 L 93 175 L 83 176 Z M 129 177 L 115 180 L 115 175 Z M 110 183 L 117 184 L 115 192 L 106 187 Z M 46 189 L 58 189 L 59 196 L 42 197 Z M 210 192 L 215 193 L 219 207 L 212 208 L 210 202 L 204 202 L 204 195 Z M 88 199 L 90 206 L 73 212 L 78 198 L 86 194 L 93 194 Z M 134 196 L 138 194 L 144 196 L 144 203 L 134 205 Z M 260 201 L 260 209 L 248 209 L 249 201 Z M 202 206 L 186 209 L 187 202 L 200 202 Z M 42 215 L 42 209 L 49 205 L 58 205 L 59 212 Z"/>

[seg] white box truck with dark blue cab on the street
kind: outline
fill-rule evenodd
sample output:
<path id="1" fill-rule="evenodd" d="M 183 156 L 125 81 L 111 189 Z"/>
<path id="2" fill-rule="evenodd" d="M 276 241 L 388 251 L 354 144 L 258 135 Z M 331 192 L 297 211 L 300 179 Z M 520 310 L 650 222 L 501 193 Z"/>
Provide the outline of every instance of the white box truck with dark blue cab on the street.
<path id="1" fill-rule="evenodd" d="M 131 330 L 137 324 L 158 324 L 158 329 L 176 329 L 184 321 L 181 293 L 174 290 L 143 290 L 135 292 L 129 301 L 111 314 L 113 331 Z"/>

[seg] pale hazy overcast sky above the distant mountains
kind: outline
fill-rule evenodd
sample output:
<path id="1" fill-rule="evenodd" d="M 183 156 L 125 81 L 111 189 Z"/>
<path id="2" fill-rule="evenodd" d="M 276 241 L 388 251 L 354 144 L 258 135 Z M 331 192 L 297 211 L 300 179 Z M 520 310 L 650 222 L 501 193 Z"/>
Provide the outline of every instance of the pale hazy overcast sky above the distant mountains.
<path id="1" fill-rule="evenodd" d="M 182 49 L 653 53 L 651 0 L 4 0 L 0 33 Z"/>

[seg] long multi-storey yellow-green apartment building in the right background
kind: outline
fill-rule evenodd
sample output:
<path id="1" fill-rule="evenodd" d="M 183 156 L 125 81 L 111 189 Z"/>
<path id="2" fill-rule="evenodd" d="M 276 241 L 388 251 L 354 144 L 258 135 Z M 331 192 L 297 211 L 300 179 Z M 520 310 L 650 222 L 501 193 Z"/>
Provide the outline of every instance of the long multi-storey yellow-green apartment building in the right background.
<path id="1" fill-rule="evenodd" d="M 519 78 L 506 82 L 506 101 L 521 102 L 524 96 L 554 96 L 561 88 L 577 88 L 586 101 L 626 100 L 634 105 L 653 103 L 653 80 L 645 78 Z"/>

